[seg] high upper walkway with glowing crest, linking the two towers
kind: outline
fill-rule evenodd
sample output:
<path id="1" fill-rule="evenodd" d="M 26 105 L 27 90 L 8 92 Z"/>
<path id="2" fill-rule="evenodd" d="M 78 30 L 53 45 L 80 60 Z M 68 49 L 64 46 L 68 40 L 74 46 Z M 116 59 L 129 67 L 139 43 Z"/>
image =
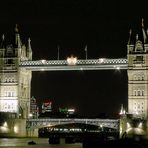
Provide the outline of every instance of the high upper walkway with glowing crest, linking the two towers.
<path id="1" fill-rule="evenodd" d="M 27 60 L 20 62 L 19 67 L 30 71 L 119 70 L 128 68 L 128 60 L 125 58 L 99 58 L 85 60 L 77 60 L 74 58 L 70 58 L 69 60 Z"/>

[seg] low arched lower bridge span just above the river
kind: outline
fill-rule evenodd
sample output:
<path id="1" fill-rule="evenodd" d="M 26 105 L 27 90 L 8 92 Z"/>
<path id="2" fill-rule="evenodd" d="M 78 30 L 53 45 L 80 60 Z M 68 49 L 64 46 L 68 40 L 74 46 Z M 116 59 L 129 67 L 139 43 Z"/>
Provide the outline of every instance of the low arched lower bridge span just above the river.
<path id="1" fill-rule="evenodd" d="M 42 127 L 55 126 L 60 124 L 69 124 L 69 123 L 83 123 L 83 124 L 97 125 L 101 127 L 108 127 L 108 128 L 113 128 L 115 130 L 119 130 L 118 119 L 39 118 L 39 119 L 28 119 L 26 127 L 28 130 L 33 130 Z"/>

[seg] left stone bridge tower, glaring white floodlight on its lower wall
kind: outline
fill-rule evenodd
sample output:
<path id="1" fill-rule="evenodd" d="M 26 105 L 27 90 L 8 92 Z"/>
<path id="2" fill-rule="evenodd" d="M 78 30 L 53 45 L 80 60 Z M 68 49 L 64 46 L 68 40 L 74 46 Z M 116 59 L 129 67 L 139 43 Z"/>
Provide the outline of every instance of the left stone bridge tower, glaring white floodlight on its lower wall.
<path id="1" fill-rule="evenodd" d="M 5 36 L 2 35 L 0 45 L 0 114 L 2 119 L 0 125 L 7 125 L 8 131 L 14 125 L 7 123 L 5 119 L 13 119 L 13 121 L 24 119 L 25 121 L 30 112 L 32 72 L 19 68 L 20 61 L 24 60 L 32 60 L 30 39 L 27 46 L 22 44 L 16 25 L 12 43 L 7 44 Z"/>

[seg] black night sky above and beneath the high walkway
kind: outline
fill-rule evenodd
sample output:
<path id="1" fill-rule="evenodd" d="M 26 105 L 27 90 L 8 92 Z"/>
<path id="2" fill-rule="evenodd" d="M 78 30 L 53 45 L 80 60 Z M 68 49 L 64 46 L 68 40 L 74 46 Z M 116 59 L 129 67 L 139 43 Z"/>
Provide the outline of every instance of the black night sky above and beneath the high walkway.
<path id="1" fill-rule="evenodd" d="M 145 2 L 120 0 L 5 0 L 0 2 L 0 33 L 11 38 L 17 23 L 25 43 L 32 40 L 33 59 L 60 59 L 71 54 L 85 58 L 126 58 L 128 32 L 141 19 L 148 24 Z M 148 26 L 148 25 L 147 25 Z M 33 72 L 32 95 L 38 103 L 53 101 L 53 108 L 74 107 L 83 115 L 106 113 L 115 117 L 127 108 L 127 72 Z"/>

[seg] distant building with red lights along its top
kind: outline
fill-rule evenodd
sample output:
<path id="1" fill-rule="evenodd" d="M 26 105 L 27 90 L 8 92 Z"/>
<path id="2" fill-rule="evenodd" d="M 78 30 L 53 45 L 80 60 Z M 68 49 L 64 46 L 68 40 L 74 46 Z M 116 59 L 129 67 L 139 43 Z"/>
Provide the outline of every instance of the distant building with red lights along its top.
<path id="1" fill-rule="evenodd" d="M 42 104 L 42 113 L 52 112 L 52 101 L 45 100 Z"/>

